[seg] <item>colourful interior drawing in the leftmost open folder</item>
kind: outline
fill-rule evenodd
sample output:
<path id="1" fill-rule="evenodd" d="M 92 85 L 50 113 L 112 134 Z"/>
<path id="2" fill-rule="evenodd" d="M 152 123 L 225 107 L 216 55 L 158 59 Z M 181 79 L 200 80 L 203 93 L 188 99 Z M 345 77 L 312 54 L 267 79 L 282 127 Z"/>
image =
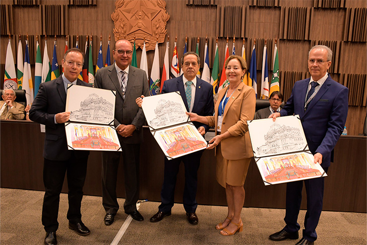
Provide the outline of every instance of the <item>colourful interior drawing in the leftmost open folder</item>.
<path id="1" fill-rule="evenodd" d="M 71 143 L 74 149 L 119 150 L 111 127 L 74 124 L 71 128 Z"/>

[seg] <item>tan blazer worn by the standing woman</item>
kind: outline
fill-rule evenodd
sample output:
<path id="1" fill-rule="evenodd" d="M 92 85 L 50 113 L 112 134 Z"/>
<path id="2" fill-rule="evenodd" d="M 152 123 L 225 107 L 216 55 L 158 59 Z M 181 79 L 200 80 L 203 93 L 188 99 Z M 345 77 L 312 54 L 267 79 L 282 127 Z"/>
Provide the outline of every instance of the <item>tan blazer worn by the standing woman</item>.
<path id="1" fill-rule="evenodd" d="M 225 96 L 227 87 L 218 94 L 215 104 L 215 116 L 206 117 L 209 126 L 215 126 L 217 135 L 218 107 Z M 240 160 L 253 157 L 247 120 L 252 120 L 255 115 L 256 95 L 252 87 L 243 82 L 237 87 L 229 98 L 223 113 L 222 133 L 228 131 L 232 137 L 221 141 L 223 158 L 227 160 Z"/>

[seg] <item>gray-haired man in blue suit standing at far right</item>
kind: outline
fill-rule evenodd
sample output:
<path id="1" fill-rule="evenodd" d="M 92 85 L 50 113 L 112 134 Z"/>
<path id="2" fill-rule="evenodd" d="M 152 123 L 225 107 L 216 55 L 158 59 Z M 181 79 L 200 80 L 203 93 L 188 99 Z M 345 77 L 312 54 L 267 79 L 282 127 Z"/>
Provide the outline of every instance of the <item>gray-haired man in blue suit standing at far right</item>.
<path id="1" fill-rule="evenodd" d="M 342 134 L 348 113 L 348 88 L 335 82 L 327 73 L 332 51 L 323 45 L 311 48 L 308 53 L 308 71 L 311 78 L 295 83 L 291 97 L 279 112 L 269 117 L 300 115 L 309 150 L 314 162 L 327 172 L 331 152 Z M 316 226 L 322 210 L 324 178 L 312 178 L 287 183 L 286 226 L 270 235 L 274 241 L 298 239 L 297 223 L 302 199 L 303 182 L 307 193 L 307 212 L 303 237 L 297 244 L 313 244 L 317 239 Z"/>

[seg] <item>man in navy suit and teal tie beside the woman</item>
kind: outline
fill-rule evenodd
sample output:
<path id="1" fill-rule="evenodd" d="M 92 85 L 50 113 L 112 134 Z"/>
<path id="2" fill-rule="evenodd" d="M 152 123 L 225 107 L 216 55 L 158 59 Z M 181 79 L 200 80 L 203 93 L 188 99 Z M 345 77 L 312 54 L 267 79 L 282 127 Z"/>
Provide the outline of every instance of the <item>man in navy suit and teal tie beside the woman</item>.
<path id="1" fill-rule="evenodd" d="M 183 55 L 181 61 L 183 75 L 164 82 L 162 93 L 180 91 L 186 110 L 197 113 L 200 116 L 211 116 L 214 111 L 213 86 L 196 77 L 200 67 L 200 58 L 194 52 L 187 52 Z M 189 95 L 187 92 L 189 89 Z M 189 97 L 189 98 L 188 98 Z M 136 102 L 141 104 L 141 99 Z M 194 122 L 195 127 L 201 135 L 204 135 L 209 126 Z M 174 195 L 176 178 L 179 172 L 180 163 L 185 167 L 185 187 L 183 190 L 183 207 L 190 224 L 199 222 L 195 213 L 196 190 L 197 190 L 197 170 L 200 164 L 200 157 L 203 151 L 194 152 L 180 158 L 168 160 L 165 158 L 164 181 L 161 191 L 162 203 L 159 205 L 158 212 L 150 218 L 151 222 L 161 221 L 165 216 L 171 215 L 171 209 L 174 205 Z"/>

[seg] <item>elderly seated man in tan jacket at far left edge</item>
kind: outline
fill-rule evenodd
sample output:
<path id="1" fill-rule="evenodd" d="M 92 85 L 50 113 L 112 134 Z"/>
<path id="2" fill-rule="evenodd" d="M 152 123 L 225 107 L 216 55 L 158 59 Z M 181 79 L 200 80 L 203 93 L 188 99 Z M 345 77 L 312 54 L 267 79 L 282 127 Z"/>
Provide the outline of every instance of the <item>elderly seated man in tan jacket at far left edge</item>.
<path id="1" fill-rule="evenodd" d="M 15 91 L 12 88 L 5 88 L 0 101 L 0 119 L 22 120 L 24 118 L 24 105 L 15 102 Z"/>

